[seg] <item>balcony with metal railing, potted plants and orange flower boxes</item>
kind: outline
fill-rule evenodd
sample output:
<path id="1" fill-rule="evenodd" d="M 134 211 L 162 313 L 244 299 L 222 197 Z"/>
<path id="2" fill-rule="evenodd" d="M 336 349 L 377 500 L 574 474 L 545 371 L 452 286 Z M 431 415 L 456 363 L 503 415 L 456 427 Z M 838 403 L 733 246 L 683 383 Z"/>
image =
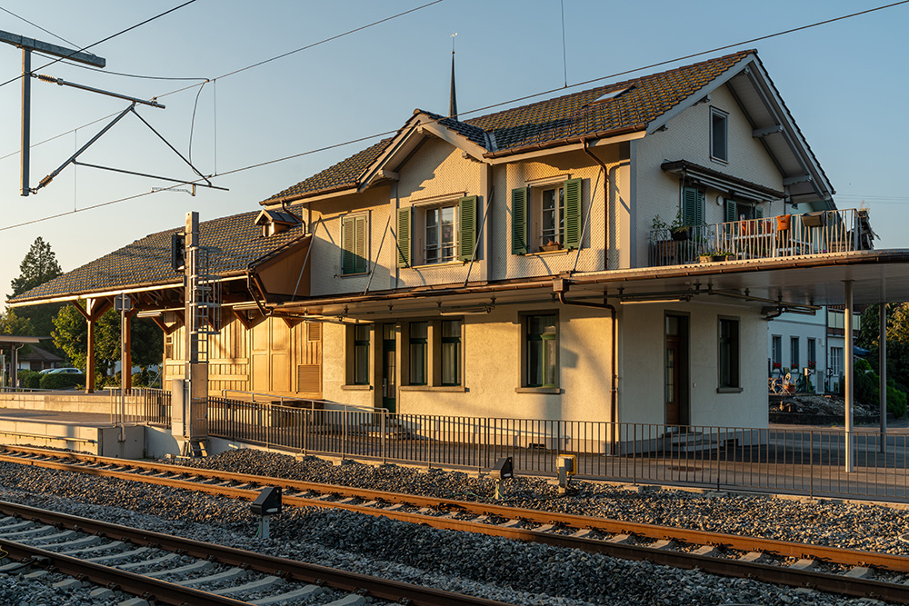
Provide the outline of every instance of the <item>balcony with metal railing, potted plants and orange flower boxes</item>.
<path id="1" fill-rule="evenodd" d="M 870 250 L 874 231 L 864 209 L 789 214 L 650 232 L 649 266 L 774 259 Z"/>

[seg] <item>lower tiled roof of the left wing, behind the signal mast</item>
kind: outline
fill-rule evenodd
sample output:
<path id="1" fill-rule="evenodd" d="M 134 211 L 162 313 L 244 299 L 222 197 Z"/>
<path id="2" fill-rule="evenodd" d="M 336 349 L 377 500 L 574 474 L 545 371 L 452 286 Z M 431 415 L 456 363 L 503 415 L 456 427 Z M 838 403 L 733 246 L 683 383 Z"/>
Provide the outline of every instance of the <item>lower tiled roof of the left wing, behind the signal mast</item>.
<path id="1" fill-rule="evenodd" d="M 293 207 L 289 207 L 293 211 Z M 304 235 L 301 225 L 267 238 L 255 225 L 259 211 L 235 214 L 199 224 L 203 246 L 215 249 L 213 273 L 227 275 L 244 271 L 256 260 Z M 175 283 L 180 274 L 170 265 L 171 234 L 180 229 L 152 233 L 114 253 L 87 263 L 72 272 L 35 286 L 10 299 L 11 303 L 37 301 L 59 296 L 101 293 L 118 288 Z"/>

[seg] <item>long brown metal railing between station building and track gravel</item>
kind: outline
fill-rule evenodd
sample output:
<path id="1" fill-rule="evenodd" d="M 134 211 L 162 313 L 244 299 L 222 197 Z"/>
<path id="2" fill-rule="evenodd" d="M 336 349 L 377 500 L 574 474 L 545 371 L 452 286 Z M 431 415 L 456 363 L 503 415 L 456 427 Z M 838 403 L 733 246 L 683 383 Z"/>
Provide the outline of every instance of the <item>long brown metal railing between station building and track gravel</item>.
<path id="1" fill-rule="evenodd" d="M 516 473 L 549 475 L 556 456 L 578 474 L 810 496 L 909 499 L 909 436 L 815 429 L 485 419 L 314 410 L 209 399 L 209 434 L 294 452 L 478 471 L 512 457 Z"/>

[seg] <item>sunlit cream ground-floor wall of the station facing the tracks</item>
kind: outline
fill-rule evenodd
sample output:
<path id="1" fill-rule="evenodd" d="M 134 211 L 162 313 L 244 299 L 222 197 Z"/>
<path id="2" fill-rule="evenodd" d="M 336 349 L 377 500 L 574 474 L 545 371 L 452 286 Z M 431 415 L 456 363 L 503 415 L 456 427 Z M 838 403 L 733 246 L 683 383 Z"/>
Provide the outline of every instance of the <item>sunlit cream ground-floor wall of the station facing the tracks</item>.
<path id="1" fill-rule="evenodd" d="M 561 393 L 517 392 L 522 388 L 523 313 L 559 316 Z M 393 322 L 393 321 L 392 321 Z M 380 326 L 376 323 L 375 326 Z M 323 395 L 326 400 L 378 405 L 381 368 L 371 353 L 372 389 L 345 386 L 345 327 L 326 324 Z M 609 419 L 611 320 L 605 310 L 558 304 L 500 306 L 464 317 L 462 389 L 403 386 L 397 412 L 448 416 L 607 421 Z M 373 346 L 381 341 L 373 338 Z M 407 355 L 399 346 L 398 359 Z M 399 363 L 400 368 L 400 363 Z"/>

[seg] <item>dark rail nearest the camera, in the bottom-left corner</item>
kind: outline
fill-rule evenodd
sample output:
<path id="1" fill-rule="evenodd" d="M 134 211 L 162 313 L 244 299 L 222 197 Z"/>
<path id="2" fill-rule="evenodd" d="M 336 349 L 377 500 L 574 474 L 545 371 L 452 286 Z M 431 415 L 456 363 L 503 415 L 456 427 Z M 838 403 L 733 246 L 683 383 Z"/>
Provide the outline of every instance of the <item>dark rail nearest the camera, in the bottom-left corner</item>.
<path id="1" fill-rule="evenodd" d="M 208 591 L 196 590 L 175 583 L 144 577 L 141 574 L 135 574 L 135 572 L 122 571 L 111 566 L 79 560 L 55 551 L 46 551 L 30 545 L 23 545 L 22 543 L 0 539 L 0 545 L 9 554 L 9 557 L 15 560 L 31 561 L 31 564 L 38 568 L 50 565 L 57 572 L 91 581 L 109 589 L 142 596 L 147 601 L 175 604 L 177 606 L 181 604 L 240 606 L 248 603 L 215 595 Z"/>

